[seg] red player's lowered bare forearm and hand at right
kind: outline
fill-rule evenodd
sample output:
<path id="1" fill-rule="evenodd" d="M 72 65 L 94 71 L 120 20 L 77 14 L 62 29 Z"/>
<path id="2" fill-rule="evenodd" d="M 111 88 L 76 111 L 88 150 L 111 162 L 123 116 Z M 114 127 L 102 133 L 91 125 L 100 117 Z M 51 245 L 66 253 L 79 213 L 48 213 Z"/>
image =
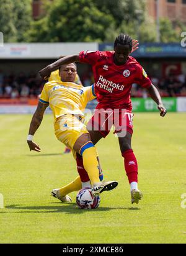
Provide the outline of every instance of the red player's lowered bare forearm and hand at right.
<path id="1" fill-rule="evenodd" d="M 166 111 L 166 108 L 164 107 L 164 105 L 162 104 L 162 100 L 161 100 L 159 91 L 157 90 L 157 88 L 154 85 L 152 85 L 147 90 L 148 90 L 148 93 L 151 96 L 151 98 L 157 103 L 157 109 L 159 109 L 159 111 L 160 111 L 160 116 L 164 117 L 166 115 L 167 111 Z"/>

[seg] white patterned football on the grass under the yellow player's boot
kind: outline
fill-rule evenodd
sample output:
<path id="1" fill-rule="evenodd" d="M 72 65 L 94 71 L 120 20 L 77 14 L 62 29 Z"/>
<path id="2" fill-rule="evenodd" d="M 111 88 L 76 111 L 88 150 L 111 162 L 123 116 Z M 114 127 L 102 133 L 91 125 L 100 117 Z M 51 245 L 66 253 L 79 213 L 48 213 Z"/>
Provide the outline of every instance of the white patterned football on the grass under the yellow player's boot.
<path id="1" fill-rule="evenodd" d="M 92 196 L 91 188 L 82 188 L 76 196 L 79 209 L 95 209 L 100 204 L 100 196 Z"/>

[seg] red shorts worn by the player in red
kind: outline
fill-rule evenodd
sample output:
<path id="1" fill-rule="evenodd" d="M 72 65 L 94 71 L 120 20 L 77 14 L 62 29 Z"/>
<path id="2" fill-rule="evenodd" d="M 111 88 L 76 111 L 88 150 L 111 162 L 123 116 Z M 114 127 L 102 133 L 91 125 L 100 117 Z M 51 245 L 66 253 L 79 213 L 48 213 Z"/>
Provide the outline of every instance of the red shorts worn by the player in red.
<path id="1" fill-rule="evenodd" d="M 95 109 L 94 115 L 87 123 L 87 130 L 99 130 L 106 137 L 112 126 L 114 134 L 125 137 L 126 132 L 133 134 L 133 114 L 128 109 Z"/>

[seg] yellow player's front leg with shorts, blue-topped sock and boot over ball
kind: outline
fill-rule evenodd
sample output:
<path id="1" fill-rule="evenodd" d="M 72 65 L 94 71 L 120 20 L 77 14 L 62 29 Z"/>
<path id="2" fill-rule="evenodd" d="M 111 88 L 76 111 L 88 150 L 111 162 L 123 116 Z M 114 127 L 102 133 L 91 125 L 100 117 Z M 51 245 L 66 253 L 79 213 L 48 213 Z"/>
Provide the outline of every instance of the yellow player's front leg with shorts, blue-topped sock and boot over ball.
<path id="1" fill-rule="evenodd" d="M 79 122 L 75 116 L 66 115 L 60 117 L 56 121 L 55 134 L 61 142 L 82 155 L 84 167 L 89 175 L 91 184 L 94 186 L 100 184 L 99 171 L 97 168 L 99 165 L 97 162 L 97 152 L 91 142 L 86 126 Z M 100 188 L 100 191 L 112 190 L 113 186 L 116 185 L 116 182 L 113 184 L 112 182 L 109 184 L 104 184 L 102 187 L 103 189 Z"/>

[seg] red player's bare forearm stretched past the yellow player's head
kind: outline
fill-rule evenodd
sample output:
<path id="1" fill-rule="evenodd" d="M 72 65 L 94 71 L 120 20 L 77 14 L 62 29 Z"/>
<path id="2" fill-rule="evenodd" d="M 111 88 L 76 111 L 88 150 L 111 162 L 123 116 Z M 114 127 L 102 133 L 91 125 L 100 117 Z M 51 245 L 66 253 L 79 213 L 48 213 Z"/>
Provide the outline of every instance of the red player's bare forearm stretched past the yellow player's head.
<path id="1" fill-rule="evenodd" d="M 43 79 L 47 80 L 50 77 L 50 73 L 54 70 L 57 70 L 61 65 L 69 64 L 73 62 L 79 62 L 79 54 L 76 55 L 68 55 L 60 60 L 56 60 L 56 62 L 51 63 L 50 65 L 46 66 L 38 73 L 42 76 Z"/>

